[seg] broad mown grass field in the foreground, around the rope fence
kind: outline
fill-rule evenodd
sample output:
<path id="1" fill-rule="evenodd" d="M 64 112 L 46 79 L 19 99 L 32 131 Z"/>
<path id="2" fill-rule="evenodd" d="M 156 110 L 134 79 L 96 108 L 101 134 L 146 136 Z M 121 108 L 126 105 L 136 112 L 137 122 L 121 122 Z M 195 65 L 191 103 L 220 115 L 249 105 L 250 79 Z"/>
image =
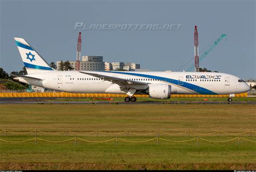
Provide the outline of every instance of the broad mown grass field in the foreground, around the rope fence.
<path id="1" fill-rule="evenodd" d="M 245 132 L 255 129 L 256 105 L 83 105 L 40 104 L 0 105 L 0 130 L 11 131 L 124 131 L 150 132 L 158 129 L 165 132 Z M 155 134 L 156 135 L 156 134 Z M 126 140 L 147 140 L 155 137 L 120 135 Z M 256 140 L 256 133 L 246 139 Z M 187 140 L 196 137 L 166 137 L 169 140 Z M 26 140 L 33 138 L 8 133 L 0 134 L 4 140 Z M 69 134 L 45 136 L 46 140 L 65 140 Z M 107 140 L 113 137 L 79 136 L 87 140 Z M 119 136 L 118 136 L 119 137 Z M 236 136 L 202 136 L 209 140 L 228 140 Z M 49 143 L 34 141 L 26 143 L 0 142 L 0 169 L 255 169 L 256 143 L 238 140 L 226 143 L 206 141 L 171 143 L 159 140 L 145 143 L 115 141 L 86 143 L 68 141 Z"/>

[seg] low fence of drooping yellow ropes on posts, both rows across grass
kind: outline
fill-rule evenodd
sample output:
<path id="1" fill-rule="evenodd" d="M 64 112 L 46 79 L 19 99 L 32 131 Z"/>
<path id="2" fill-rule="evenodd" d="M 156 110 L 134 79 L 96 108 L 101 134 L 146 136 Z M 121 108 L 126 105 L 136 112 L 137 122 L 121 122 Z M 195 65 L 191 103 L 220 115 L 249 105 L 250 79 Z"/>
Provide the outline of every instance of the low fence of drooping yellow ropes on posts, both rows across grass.
<path id="1" fill-rule="evenodd" d="M 23 141 L 11 141 L 11 140 L 5 140 L 5 139 L 0 139 L 0 141 L 2 142 L 9 142 L 9 143 L 23 143 L 23 142 L 29 142 L 29 141 L 35 141 L 35 145 L 37 145 L 37 142 L 38 141 L 44 141 L 44 142 L 55 142 L 55 143 L 60 143 L 60 142 L 68 142 L 68 141 L 75 141 L 75 145 L 77 145 L 77 141 L 83 141 L 83 142 L 88 142 L 88 143 L 104 143 L 104 142 L 111 142 L 111 141 L 115 141 L 116 142 L 116 145 L 118 145 L 118 141 L 121 141 L 121 142 L 129 142 L 129 143 L 144 143 L 144 142 L 150 142 L 150 141 L 153 141 L 155 140 L 157 142 L 157 145 L 159 144 L 159 141 L 167 141 L 167 142 L 173 142 L 173 143 L 181 143 L 181 142 L 190 142 L 190 141 L 194 141 L 194 140 L 197 140 L 197 146 L 199 146 L 199 140 L 202 140 L 202 141 L 205 141 L 205 142 L 215 142 L 215 143 L 223 143 L 223 142 L 230 142 L 230 141 L 235 141 L 237 140 L 238 141 L 238 145 L 240 145 L 240 141 L 241 140 L 244 140 L 244 141 L 248 141 L 248 142 L 253 142 L 253 143 L 256 143 L 256 140 L 250 140 L 250 139 L 246 139 L 244 137 L 241 137 L 240 135 L 242 134 L 246 134 L 246 133 L 249 133 L 250 135 L 247 135 L 247 136 L 255 136 L 255 135 L 252 135 L 252 133 L 256 133 L 254 130 L 247 130 L 246 132 L 242 132 L 242 133 L 228 133 L 228 132 L 224 132 L 222 130 L 218 130 L 218 131 L 215 131 L 215 132 L 211 132 L 211 133 L 197 133 L 197 132 L 192 132 L 190 130 L 187 130 L 185 132 L 181 132 L 181 133 L 166 133 L 166 132 L 162 132 L 160 130 L 157 130 L 156 132 L 150 132 L 150 133 L 134 133 L 134 132 L 131 132 L 131 131 L 124 131 L 124 132 L 118 132 L 118 133 L 106 133 L 106 132 L 100 132 L 98 130 L 94 131 L 94 132 L 87 132 L 87 133 L 77 133 L 77 132 L 71 132 L 69 130 L 65 130 L 63 132 L 56 132 L 56 133 L 46 133 L 46 132 L 42 132 L 41 130 L 32 130 L 30 132 L 11 132 L 9 130 L 2 130 L 0 133 L 5 133 L 5 136 L 8 134 L 8 133 L 11 133 L 11 134 L 29 134 L 29 133 L 33 133 L 35 134 L 35 137 L 31 138 L 31 139 L 28 139 L 28 140 L 23 140 Z M 74 137 L 70 138 L 70 139 L 66 139 L 66 140 L 45 140 L 45 139 L 42 139 L 41 137 L 38 137 L 40 135 L 38 135 L 38 133 L 42 133 L 42 134 L 47 134 L 47 135 L 57 135 L 57 134 L 60 134 L 60 133 L 65 133 L 66 136 L 68 136 L 68 133 L 72 133 L 72 134 L 75 134 Z M 88 134 L 93 134 L 93 133 L 96 133 L 96 136 L 98 136 L 98 133 L 102 133 L 102 134 L 105 134 L 105 135 L 111 135 L 111 136 L 114 136 L 112 139 L 108 139 L 108 140 L 103 140 L 103 141 L 96 141 L 96 140 L 85 140 L 85 139 L 82 139 L 81 137 L 78 137 L 77 135 L 80 135 L 80 136 L 84 136 L 84 135 L 88 135 Z M 129 133 L 132 133 L 132 134 L 135 134 L 135 135 L 139 135 L 139 136 L 152 136 L 152 134 L 157 134 L 156 136 L 154 136 L 152 139 L 147 139 L 147 140 L 143 140 L 143 141 L 133 141 L 133 140 L 127 140 L 127 139 L 124 139 L 124 136 L 121 136 L 121 134 L 124 134 L 126 133 L 127 137 L 129 136 Z M 165 135 L 159 135 L 159 134 L 165 134 Z M 192 134 L 197 134 L 198 136 L 197 137 L 194 137 L 192 139 L 188 139 L 188 140 L 169 140 L 169 139 L 166 139 L 164 138 L 164 136 L 168 135 L 168 136 L 177 136 L 177 135 L 182 135 L 182 134 L 185 134 L 185 133 L 188 133 L 187 136 L 191 136 L 190 133 Z M 219 133 L 219 136 L 220 133 L 224 133 L 224 134 L 228 134 L 228 135 L 239 135 L 235 138 L 232 138 L 232 139 L 228 139 L 228 140 L 221 140 L 221 141 L 216 141 L 216 140 L 208 140 L 208 139 L 204 139 L 203 137 L 199 137 L 199 135 L 212 135 L 212 134 L 215 134 L 215 133 Z M 42 135 L 41 135 L 42 136 Z M 69 135 L 70 136 L 70 135 Z M 73 135 L 72 135 L 73 136 Z"/>

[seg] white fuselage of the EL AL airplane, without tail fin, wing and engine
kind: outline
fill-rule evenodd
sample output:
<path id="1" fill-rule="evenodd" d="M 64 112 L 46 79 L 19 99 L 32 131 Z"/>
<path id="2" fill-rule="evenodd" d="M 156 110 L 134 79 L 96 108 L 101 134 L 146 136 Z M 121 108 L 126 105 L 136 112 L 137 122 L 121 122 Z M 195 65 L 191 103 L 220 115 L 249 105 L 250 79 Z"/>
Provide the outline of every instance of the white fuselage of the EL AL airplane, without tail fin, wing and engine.
<path id="1" fill-rule="evenodd" d="M 90 73 L 90 71 L 86 71 Z M 92 72 L 92 71 L 91 71 Z M 144 82 L 144 85 L 134 85 L 136 94 L 143 94 L 149 84 L 171 85 L 171 94 L 234 94 L 250 90 L 245 82 L 231 74 L 217 72 L 121 72 L 100 71 L 93 73 L 110 77 Z M 92 77 L 78 71 L 50 71 L 34 73 L 27 76 L 40 78 L 19 79 L 22 82 L 70 93 L 111 93 L 126 94 L 127 90 L 118 84 L 98 77 Z"/>

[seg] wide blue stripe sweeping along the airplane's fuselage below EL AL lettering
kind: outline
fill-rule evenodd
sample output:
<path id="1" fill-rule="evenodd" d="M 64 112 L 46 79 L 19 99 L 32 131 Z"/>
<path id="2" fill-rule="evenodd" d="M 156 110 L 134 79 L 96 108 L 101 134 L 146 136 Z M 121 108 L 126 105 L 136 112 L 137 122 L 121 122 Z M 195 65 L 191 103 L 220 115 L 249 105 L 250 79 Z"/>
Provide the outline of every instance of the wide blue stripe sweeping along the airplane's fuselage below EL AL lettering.
<path id="1" fill-rule="evenodd" d="M 140 74 L 140 73 L 113 72 L 113 71 L 103 71 L 103 72 L 120 73 L 120 74 L 134 75 L 134 76 L 138 76 L 138 77 L 145 77 L 145 78 L 151 78 L 151 79 L 159 79 L 159 80 L 163 80 L 163 81 L 166 81 L 166 82 L 170 82 L 170 83 L 175 84 L 175 85 L 179 85 L 179 81 L 176 80 L 176 79 L 158 77 L 158 76 L 154 76 L 154 75 Z M 203 87 L 200 87 L 200 86 L 197 86 L 197 85 L 194 85 L 194 84 L 190 84 L 190 83 L 184 82 L 184 81 L 183 81 L 183 85 L 179 85 L 179 86 L 188 88 L 190 90 L 198 92 L 199 94 L 217 95 L 217 93 L 214 93 L 211 90 L 208 90 L 206 88 L 203 88 Z"/>

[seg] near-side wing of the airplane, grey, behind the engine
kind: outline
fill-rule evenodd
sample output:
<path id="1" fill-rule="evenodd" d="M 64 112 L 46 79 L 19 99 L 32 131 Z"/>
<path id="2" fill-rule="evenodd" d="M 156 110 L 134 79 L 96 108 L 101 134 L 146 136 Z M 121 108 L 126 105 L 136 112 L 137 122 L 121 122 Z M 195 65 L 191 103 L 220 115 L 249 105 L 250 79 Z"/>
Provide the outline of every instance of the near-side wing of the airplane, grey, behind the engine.
<path id="1" fill-rule="evenodd" d="M 105 81 L 110 81 L 113 84 L 118 84 L 121 88 L 121 90 L 125 90 L 125 89 L 129 89 L 129 88 L 135 88 L 138 85 L 147 85 L 147 83 L 145 82 L 140 82 L 140 81 L 133 81 L 130 79 L 123 79 L 123 78 L 117 78 L 117 77 L 110 77 L 108 75 L 104 75 L 104 74 L 98 74 L 98 73 L 89 73 L 89 72 L 82 72 L 79 71 L 80 73 L 84 73 L 87 75 L 91 75 L 93 77 L 97 77 L 97 78 L 101 78 Z"/>

